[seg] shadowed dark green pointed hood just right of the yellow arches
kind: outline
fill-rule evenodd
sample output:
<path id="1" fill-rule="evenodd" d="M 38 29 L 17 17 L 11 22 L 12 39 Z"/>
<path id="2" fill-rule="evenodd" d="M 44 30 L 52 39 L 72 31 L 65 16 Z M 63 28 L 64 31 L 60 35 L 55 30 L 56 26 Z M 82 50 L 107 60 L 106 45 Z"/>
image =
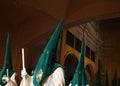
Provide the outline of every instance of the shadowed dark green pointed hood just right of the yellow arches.
<path id="1" fill-rule="evenodd" d="M 98 70 L 97 70 L 97 73 L 96 73 L 96 77 L 95 77 L 93 86 L 101 86 L 100 75 L 101 75 L 101 72 L 100 72 L 100 60 L 98 60 Z"/>

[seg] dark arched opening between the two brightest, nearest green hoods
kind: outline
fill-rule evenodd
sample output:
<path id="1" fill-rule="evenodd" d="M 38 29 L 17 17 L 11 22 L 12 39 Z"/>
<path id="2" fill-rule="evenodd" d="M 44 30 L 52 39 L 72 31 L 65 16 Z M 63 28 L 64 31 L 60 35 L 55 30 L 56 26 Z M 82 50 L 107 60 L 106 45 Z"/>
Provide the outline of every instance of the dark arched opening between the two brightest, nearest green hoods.
<path id="1" fill-rule="evenodd" d="M 66 57 L 64 63 L 66 86 L 68 86 L 68 84 L 72 80 L 77 64 L 78 64 L 78 59 L 74 55 L 69 54 Z"/>

